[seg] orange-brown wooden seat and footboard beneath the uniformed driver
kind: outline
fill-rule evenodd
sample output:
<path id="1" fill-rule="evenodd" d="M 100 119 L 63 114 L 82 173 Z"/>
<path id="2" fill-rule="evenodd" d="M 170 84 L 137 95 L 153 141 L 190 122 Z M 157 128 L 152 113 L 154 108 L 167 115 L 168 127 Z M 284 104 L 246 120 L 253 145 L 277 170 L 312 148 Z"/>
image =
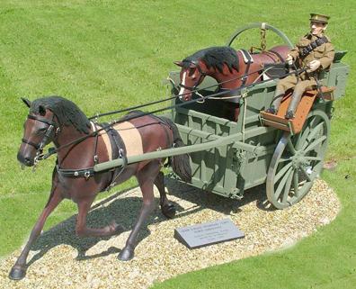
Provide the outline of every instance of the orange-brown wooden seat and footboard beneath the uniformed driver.
<path id="1" fill-rule="evenodd" d="M 292 93 L 285 95 L 277 114 L 266 113 L 264 111 L 261 112 L 261 120 L 263 124 L 266 126 L 275 127 L 282 131 L 289 131 L 292 134 L 297 134 L 303 128 L 304 122 L 306 122 L 307 119 L 307 114 L 309 113 L 316 97 L 321 97 L 325 100 L 334 100 L 334 86 L 322 86 L 320 90 L 321 92 L 317 90 L 309 90 L 305 92 L 298 105 L 294 119 L 289 120 L 284 116 L 287 113 L 287 109 L 290 103 L 290 95 Z"/>

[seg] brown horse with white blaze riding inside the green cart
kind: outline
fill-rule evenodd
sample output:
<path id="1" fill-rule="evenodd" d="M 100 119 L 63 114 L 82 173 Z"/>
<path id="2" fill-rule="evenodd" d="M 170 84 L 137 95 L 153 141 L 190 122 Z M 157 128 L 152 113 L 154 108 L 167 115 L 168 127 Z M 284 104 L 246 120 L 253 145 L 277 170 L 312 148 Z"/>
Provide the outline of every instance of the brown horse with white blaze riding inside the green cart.
<path id="1" fill-rule="evenodd" d="M 210 47 L 199 50 L 182 61 L 174 62 L 181 69 L 179 95 L 182 101 L 190 101 L 204 77 L 217 80 L 220 90 L 236 90 L 262 80 L 265 64 L 285 62 L 288 46 L 276 46 L 271 50 L 250 54 L 246 50 L 234 50 L 229 46 Z M 233 121 L 238 118 L 238 104 L 229 101 Z"/>

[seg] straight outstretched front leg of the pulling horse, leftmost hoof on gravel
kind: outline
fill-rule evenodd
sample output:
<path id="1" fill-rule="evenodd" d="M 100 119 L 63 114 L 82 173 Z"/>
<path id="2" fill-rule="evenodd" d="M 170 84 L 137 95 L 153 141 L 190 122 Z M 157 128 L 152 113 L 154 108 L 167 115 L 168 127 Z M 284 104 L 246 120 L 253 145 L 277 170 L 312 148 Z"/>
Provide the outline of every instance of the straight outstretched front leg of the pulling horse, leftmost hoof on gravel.
<path id="1" fill-rule="evenodd" d="M 42 213 L 40 214 L 39 220 L 36 222 L 35 226 L 31 231 L 29 240 L 27 241 L 26 246 L 22 249 L 20 257 L 17 258 L 16 263 L 12 267 L 9 277 L 13 280 L 20 280 L 26 275 L 26 260 L 29 255 L 31 246 L 33 242 L 39 237 L 40 231 L 43 229 L 43 226 L 49 217 L 49 214 L 58 206 L 63 200 L 62 196 L 59 194 L 58 190 L 52 191 L 49 196 L 49 202 L 46 204 Z"/>

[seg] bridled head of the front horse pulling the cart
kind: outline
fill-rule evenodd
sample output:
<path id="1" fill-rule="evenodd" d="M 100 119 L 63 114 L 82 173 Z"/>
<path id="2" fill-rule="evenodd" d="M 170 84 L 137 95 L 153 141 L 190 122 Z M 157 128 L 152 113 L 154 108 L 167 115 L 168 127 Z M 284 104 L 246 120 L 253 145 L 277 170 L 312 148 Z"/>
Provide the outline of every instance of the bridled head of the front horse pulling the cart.
<path id="1" fill-rule="evenodd" d="M 24 104 L 31 108 L 31 102 L 22 98 Z M 43 151 L 43 147 L 49 144 L 58 133 L 58 125 L 54 122 L 54 113 L 44 105 L 36 108 L 36 113 L 31 112 L 23 124 L 23 138 L 17 159 L 22 165 L 32 167 Z"/>

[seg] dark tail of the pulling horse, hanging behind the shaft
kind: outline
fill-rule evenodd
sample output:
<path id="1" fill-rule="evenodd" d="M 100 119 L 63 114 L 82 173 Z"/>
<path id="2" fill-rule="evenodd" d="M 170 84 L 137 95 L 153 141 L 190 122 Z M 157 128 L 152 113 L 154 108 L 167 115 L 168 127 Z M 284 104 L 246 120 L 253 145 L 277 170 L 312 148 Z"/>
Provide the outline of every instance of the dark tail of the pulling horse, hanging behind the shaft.
<path id="1" fill-rule="evenodd" d="M 168 123 L 171 127 L 174 135 L 174 148 L 184 147 L 181 135 L 179 134 L 177 126 L 170 119 L 166 117 L 161 117 Z M 174 157 L 168 158 L 168 163 L 174 170 L 174 173 L 177 174 L 182 181 L 190 183 L 191 182 L 191 162 L 189 154 L 182 154 Z"/>

